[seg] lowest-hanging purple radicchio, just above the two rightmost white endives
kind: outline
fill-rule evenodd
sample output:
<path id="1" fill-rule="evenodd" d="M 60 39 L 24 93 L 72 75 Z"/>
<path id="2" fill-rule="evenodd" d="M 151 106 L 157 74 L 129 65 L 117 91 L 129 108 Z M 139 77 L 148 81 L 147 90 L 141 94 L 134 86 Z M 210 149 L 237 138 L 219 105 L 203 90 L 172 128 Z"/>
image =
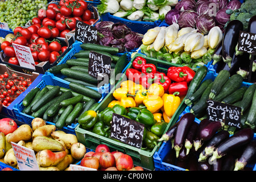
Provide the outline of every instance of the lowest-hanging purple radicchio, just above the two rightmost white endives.
<path id="1" fill-rule="evenodd" d="M 196 18 L 196 28 L 204 35 L 207 35 L 211 28 L 215 26 L 215 20 L 213 16 L 208 14 L 199 15 Z"/>

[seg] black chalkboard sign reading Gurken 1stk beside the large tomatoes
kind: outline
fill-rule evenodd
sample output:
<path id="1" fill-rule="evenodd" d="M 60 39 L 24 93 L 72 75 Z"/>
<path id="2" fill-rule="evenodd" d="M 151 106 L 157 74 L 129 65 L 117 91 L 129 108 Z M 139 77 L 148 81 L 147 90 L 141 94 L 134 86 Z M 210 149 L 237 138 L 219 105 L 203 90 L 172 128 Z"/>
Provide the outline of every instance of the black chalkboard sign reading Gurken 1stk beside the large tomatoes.
<path id="1" fill-rule="evenodd" d="M 96 43 L 97 33 L 95 27 L 76 20 L 75 39 L 82 43 Z"/>

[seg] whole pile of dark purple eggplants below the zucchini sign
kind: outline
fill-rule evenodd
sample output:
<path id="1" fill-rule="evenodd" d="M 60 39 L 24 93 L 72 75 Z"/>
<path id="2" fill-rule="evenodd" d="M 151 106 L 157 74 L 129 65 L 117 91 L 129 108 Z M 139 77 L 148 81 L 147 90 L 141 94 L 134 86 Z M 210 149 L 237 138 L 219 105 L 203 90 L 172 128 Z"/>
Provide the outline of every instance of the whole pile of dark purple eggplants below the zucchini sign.
<path id="1" fill-rule="evenodd" d="M 229 135 L 223 123 L 203 119 L 195 122 L 195 115 L 186 113 L 160 141 L 171 142 L 171 148 L 163 162 L 191 171 L 238 171 L 252 170 L 255 165 L 254 132 L 241 129 Z"/>

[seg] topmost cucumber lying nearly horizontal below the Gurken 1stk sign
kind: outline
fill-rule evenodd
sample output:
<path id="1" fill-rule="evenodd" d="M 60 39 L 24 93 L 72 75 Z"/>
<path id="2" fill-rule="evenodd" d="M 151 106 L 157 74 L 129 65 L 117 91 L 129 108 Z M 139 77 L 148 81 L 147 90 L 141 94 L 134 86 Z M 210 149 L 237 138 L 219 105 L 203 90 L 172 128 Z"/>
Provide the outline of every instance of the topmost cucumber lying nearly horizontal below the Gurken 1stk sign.
<path id="1" fill-rule="evenodd" d="M 85 51 L 104 51 L 112 55 L 119 52 L 119 49 L 117 47 L 102 46 L 99 44 L 92 44 L 92 43 L 84 43 L 84 44 L 81 44 L 80 47 Z"/>

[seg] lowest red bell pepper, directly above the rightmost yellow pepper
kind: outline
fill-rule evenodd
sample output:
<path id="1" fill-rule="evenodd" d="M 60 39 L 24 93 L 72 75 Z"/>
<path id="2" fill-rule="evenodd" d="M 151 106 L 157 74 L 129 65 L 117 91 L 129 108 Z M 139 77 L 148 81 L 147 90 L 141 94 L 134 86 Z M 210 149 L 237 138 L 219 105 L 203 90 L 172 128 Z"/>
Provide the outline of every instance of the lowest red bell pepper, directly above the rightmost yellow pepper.
<path id="1" fill-rule="evenodd" d="M 169 94 L 174 94 L 178 92 L 176 96 L 185 96 L 188 92 L 188 84 L 187 81 L 174 82 L 170 84 L 168 89 Z"/>

